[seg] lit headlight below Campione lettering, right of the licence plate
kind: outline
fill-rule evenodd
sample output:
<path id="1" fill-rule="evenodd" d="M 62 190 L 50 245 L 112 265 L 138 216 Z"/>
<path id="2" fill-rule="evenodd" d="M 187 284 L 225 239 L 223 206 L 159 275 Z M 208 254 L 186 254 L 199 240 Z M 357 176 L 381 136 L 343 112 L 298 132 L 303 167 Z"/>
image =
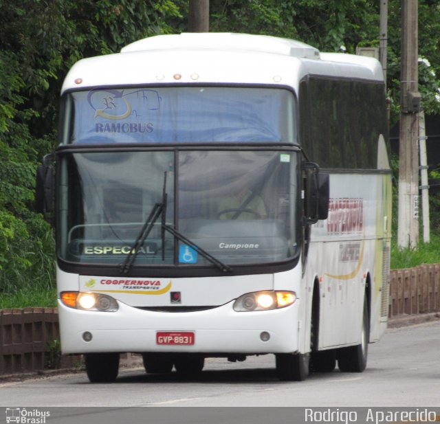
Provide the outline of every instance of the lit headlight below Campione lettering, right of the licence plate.
<path id="1" fill-rule="evenodd" d="M 256 291 L 240 296 L 234 302 L 234 311 L 269 311 L 285 308 L 296 300 L 294 291 Z"/>

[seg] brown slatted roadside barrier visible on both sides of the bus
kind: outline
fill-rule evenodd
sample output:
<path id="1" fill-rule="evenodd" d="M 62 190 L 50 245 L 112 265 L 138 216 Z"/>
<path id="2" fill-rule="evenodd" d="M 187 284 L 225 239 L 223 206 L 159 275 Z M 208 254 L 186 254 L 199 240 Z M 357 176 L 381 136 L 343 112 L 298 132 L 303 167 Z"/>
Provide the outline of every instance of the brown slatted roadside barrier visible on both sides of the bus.
<path id="1" fill-rule="evenodd" d="M 389 317 L 440 312 L 440 265 L 391 271 Z M 61 355 L 56 308 L 0 311 L 0 375 L 68 368 L 80 355 Z"/>

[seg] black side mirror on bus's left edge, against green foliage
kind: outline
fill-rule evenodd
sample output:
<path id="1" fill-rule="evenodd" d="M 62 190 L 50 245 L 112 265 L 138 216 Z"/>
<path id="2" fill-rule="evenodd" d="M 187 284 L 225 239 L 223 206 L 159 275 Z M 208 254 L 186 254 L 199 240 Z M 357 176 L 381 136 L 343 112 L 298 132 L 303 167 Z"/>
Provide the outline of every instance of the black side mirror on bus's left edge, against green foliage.
<path id="1" fill-rule="evenodd" d="M 52 155 L 43 159 L 43 165 L 36 169 L 35 210 L 43 214 L 46 221 L 52 221 L 54 203 L 54 167 L 47 162 Z"/>

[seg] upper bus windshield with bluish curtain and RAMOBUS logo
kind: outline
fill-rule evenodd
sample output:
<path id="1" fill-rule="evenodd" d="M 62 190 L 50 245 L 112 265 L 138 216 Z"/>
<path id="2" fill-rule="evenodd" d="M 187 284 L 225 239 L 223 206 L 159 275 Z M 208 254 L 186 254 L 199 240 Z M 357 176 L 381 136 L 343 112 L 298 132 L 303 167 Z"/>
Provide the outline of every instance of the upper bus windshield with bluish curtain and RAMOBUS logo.
<path id="1" fill-rule="evenodd" d="M 292 91 L 155 87 L 74 91 L 62 144 L 294 143 Z"/>

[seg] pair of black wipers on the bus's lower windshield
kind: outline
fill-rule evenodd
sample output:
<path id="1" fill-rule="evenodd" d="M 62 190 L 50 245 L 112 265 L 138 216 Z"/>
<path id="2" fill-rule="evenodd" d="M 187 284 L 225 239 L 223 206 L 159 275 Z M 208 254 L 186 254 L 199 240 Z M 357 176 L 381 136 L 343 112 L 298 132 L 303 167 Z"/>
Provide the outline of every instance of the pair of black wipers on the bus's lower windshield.
<path id="1" fill-rule="evenodd" d="M 208 254 L 206 250 L 202 249 L 200 246 L 190 241 L 189 238 L 186 238 L 183 234 L 181 234 L 181 232 L 175 230 L 175 228 L 166 224 L 167 203 L 168 203 L 168 194 L 166 193 L 166 172 L 164 172 L 164 188 L 162 190 L 162 203 L 155 203 L 155 205 L 153 206 L 153 209 L 151 210 L 150 214 L 148 215 L 148 218 L 146 219 L 144 225 L 142 226 L 139 234 L 136 237 L 133 247 L 131 247 L 129 254 L 126 256 L 124 260 L 124 263 L 120 265 L 120 271 L 124 274 L 129 272 L 131 266 L 135 261 L 137 252 L 139 252 L 140 247 L 144 245 L 146 238 L 150 234 L 151 230 L 153 230 L 153 227 L 159 216 L 162 215 L 162 222 L 161 222 L 162 260 L 165 260 L 165 232 L 167 231 L 170 234 L 173 234 L 173 236 L 175 236 L 175 238 L 177 238 L 179 241 L 185 243 L 186 245 L 190 246 L 192 249 L 197 251 L 199 254 L 201 254 L 203 258 L 206 258 L 210 263 L 212 263 L 212 265 L 215 265 L 217 268 L 219 268 L 220 271 L 231 272 L 232 269 L 228 265 L 214 258 L 214 256 Z"/>

